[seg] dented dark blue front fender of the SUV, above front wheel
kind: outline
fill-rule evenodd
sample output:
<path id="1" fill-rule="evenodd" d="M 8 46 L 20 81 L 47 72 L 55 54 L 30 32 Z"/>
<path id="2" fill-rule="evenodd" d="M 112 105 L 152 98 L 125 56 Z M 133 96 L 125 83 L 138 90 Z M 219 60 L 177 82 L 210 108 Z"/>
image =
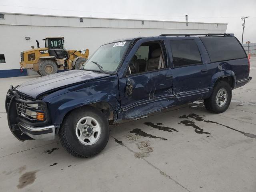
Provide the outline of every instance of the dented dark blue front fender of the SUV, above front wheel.
<path id="1" fill-rule="evenodd" d="M 73 109 L 98 102 L 108 103 L 109 110 L 117 117 L 116 111 L 120 110 L 118 78 L 117 75 L 108 76 L 64 88 L 46 96 L 44 100 L 48 103 L 54 125 L 61 124 L 64 116 Z"/>

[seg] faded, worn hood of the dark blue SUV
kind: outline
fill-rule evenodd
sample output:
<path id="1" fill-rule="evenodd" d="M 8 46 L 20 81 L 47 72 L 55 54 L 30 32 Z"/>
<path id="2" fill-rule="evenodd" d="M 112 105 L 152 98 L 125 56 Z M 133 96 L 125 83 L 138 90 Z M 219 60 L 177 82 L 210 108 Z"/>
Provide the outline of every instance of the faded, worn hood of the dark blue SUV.
<path id="1" fill-rule="evenodd" d="M 110 75 L 85 70 L 68 70 L 66 72 L 46 75 L 34 80 L 24 82 L 20 84 L 20 86 L 18 86 L 16 89 L 21 93 L 36 98 L 41 94 L 56 90 L 61 87 L 67 87 L 105 76 Z"/>

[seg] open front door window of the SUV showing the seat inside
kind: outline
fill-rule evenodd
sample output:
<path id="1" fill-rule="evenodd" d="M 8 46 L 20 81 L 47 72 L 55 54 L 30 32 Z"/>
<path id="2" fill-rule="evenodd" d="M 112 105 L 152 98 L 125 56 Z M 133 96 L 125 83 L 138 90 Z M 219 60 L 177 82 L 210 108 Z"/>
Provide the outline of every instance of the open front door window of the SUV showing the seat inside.
<path id="1" fill-rule="evenodd" d="M 141 44 L 128 65 L 128 74 L 165 68 L 164 54 L 159 42 Z"/>

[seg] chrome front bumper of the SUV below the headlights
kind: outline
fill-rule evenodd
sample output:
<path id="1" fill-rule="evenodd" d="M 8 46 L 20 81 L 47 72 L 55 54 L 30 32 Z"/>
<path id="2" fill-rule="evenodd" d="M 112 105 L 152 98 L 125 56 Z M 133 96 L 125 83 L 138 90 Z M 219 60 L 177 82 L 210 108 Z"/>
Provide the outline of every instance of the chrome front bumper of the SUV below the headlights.
<path id="1" fill-rule="evenodd" d="M 23 122 L 18 124 L 20 130 L 33 139 L 53 140 L 56 137 L 55 126 L 34 127 Z"/>

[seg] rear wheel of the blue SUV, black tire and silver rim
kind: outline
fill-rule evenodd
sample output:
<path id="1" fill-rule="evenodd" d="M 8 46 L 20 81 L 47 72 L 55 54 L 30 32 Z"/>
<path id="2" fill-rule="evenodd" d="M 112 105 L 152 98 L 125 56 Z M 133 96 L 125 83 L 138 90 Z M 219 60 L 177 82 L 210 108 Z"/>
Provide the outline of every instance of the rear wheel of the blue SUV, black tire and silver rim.
<path id="1" fill-rule="evenodd" d="M 213 113 L 222 113 L 228 109 L 232 98 L 231 86 L 226 81 L 218 81 L 209 98 L 204 100 L 205 108 Z"/>

